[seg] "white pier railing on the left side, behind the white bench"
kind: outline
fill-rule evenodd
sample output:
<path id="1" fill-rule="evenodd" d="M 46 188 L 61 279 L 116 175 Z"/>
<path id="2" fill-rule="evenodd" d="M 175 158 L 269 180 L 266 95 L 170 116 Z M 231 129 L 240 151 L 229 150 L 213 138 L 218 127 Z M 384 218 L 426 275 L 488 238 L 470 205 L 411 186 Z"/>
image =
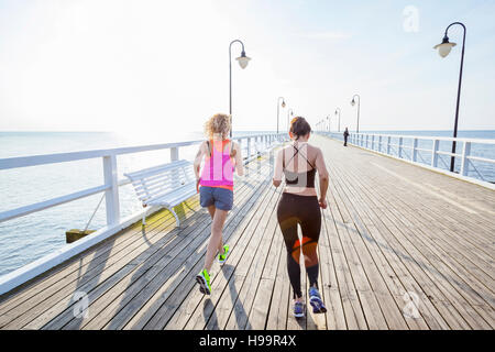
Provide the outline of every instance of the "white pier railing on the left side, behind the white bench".
<path id="1" fill-rule="evenodd" d="M 232 140 L 237 141 L 241 145 L 243 154 L 245 152 L 244 163 L 248 163 L 251 160 L 257 157 L 261 153 L 270 151 L 273 146 L 277 145 L 280 142 L 284 142 L 286 139 L 287 133 L 263 133 L 232 138 Z M 57 250 L 41 260 L 37 260 L 0 277 L 0 295 L 62 263 L 63 261 L 66 261 L 67 258 L 85 251 L 91 245 L 95 245 L 96 243 L 109 238 L 110 235 L 119 232 L 120 230 L 141 219 L 143 211 L 133 213 L 132 216 L 129 216 L 124 219 L 121 218 L 119 187 L 130 184 L 130 180 L 127 178 L 118 178 L 118 155 L 169 150 L 170 161 L 177 161 L 179 160 L 180 147 L 191 146 L 201 142 L 202 140 L 197 140 L 179 143 L 142 145 L 110 150 L 0 158 L 0 172 L 6 169 L 76 162 L 91 158 L 101 158 L 103 167 L 102 185 L 92 188 L 86 188 L 62 197 L 56 197 L 41 202 L 35 202 L 15 209 L 2 211 L 0 212 L 0 223 L 102 193 L 105 193 L 107 210 L 107 226 L 102 229 L 99 229 L 98 231 L 79 241 L 68 244 L 64 249 Z"/>

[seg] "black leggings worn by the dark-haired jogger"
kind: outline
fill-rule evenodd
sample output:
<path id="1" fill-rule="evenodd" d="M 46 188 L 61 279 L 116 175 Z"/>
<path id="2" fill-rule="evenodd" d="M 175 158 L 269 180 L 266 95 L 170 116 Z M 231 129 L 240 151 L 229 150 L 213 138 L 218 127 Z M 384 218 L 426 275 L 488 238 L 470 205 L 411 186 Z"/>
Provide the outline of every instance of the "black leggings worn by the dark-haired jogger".
<path id="1" fill-rule="evenodd" d="M 318 287 L 317 246 L 321 229 L 321 211 L 316 196 L 284 193 L 277 208 L 277 218 L 287 248 L 287 271 L 294 298 L 301 297 L 299 257 L 302 251 L 309 285 Z M 297 224 L 302 243 L 297 235 Z"/>

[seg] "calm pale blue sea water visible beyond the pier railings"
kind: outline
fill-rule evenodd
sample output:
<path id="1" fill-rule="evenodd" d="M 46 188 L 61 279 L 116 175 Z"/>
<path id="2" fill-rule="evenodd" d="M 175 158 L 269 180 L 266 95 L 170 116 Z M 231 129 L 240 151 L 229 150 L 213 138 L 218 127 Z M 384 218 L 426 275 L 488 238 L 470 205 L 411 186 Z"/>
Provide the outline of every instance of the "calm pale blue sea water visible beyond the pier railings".
<path id="1" fill-rule="evenodd" d="M 261 132 L 241 132 L 246 135 Z M 373 133 L 377 133 L 374 131 Z M 450 136 L 450 131 L 397 131 L 387 134 Z M 235 134 L 234 135 L 239 135 Z M 459 136 L 495 139 L 495 131 L 461 131 Z M 202 133 L 191 132 L 172 136 L 156 135 L 136 140 L 107 132 L 0 132 L 0 158 L 50 153 L 99 150 L 154 143 L 168 143 L 202 139 Z M 422 143 L 422 142 L 421 142 Z M 424 145 L 420 147 L 431 147 Z M 449 151 L 450 143 L 440 147 Z M 180 148 L 179 157 L 191 160 L 197 146 Z M 474 155 L 495 158 L 495 147 L 473 145 Z M 421 153 L 428 162 L 428 153 Z M 444 156 L 448 164 L 449 157 Z M 166 163 L 169 151 L 145 152 L 118 157 L 119 178 L 123 173 Z M 459 164 L 459 163 L 458 163 Z M 439 162 L 442 166 L 442 162 Z M 475 165 L 483 176 L 495 180 L 493 165 Z M 476 177 L 476 175 L 470 175 Z M 14 209 L 54 197 L 96 187 L 103 183 L 101 158 L 70 163 L 0 170 L 0 211 Z M 121 215 L 127 217 L 141 209 L 131 185 L 120 188 Z M 65 231 L 84 229 L 101 195 L 73 201 L 26 217 L 0 223 L 0 276 L 37 260 L 65 243 Z M 96 213 L 90 229 L 106 224 L 105 201 Z"/>

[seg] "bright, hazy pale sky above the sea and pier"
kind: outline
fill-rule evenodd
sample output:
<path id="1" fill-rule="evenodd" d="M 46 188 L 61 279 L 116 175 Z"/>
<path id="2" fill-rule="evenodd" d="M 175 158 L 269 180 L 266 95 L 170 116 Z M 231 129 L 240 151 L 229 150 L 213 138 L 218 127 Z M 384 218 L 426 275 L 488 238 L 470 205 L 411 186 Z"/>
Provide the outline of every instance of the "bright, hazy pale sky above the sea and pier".
<path id="1" fill-rule="evenodd" d="M 466 28 L 460 130 L 495 130 L 495 1 L 0 0 L 0 131 L 452 130 Z"/>

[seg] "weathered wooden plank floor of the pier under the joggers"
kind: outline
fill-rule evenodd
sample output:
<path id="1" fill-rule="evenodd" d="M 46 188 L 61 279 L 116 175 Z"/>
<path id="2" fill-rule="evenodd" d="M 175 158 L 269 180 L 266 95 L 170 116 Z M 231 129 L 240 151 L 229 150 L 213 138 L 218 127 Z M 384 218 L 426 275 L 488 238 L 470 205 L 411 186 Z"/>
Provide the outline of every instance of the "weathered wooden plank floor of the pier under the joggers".
<path id="1" fill-rule="evenodd" d="M 231 252 L 213 265 L 211 296 L 195 280 L 211 223 L 195 196 L 178 209 L 180 229 L 160 211 L 144 231 L 135 223 L 0 297 L 0 329 L 494 329 L 495 191 L 311 142 L 330 172 L 319 244 L 326 315 L 292 316 L 280 189 L 264 156 L 237 180 Z"/>

